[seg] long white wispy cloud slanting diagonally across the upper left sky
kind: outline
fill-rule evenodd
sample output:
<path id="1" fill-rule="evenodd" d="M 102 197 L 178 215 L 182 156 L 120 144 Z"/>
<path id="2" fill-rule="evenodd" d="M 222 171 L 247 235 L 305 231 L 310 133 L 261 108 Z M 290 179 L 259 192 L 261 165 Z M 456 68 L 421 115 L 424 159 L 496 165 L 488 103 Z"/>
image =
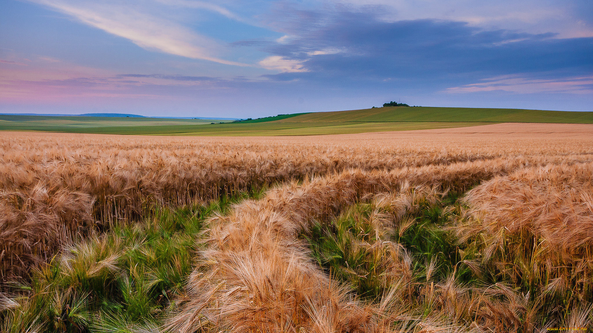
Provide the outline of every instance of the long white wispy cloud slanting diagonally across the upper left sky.
<path id="1" fill-rule="evenodd" d="M 248 66 L 244 63 L 216 57 L 213 55 L 215 53 L 213 51 L 221 49 L 216 41 L 197 34 L 172 20 L 149 14 L 143 10 L 142 6 L 126 5 L 125 2 L 107 4 L 63 0 L 30 1 L 63 12 L 91 27 L 128 39 L 144 49 L 158 50 L 192 59 L 209 60 L 225 65 Z M 206 4 L 201 5 L 208 7 Z M 209 6 L 209 9 L 223 11 L 223 8 L 213 5 Z"/>

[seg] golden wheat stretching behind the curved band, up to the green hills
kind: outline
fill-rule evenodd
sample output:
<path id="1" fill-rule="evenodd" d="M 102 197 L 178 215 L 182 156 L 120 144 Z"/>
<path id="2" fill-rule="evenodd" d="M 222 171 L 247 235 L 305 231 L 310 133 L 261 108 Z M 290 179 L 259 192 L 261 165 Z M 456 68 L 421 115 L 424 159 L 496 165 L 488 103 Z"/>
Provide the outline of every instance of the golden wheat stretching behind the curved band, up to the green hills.
<path id="1" fill-rule="evenodd" d="M 3 133 L 0 274 L 24 276 L 73 239 L 159 204 L 208 201 L 352 169 L 412 172 L 470 163 L 479 176 L 457 175 L 461 183 L 446 184 L 465 189 L 520 167 L 593 160 L 588 127 L 538 126 L 282 138 Z M 484 171 L 487 165 L 496 171 Z M 423 172 L 408 178 L 431 185 Z"/>

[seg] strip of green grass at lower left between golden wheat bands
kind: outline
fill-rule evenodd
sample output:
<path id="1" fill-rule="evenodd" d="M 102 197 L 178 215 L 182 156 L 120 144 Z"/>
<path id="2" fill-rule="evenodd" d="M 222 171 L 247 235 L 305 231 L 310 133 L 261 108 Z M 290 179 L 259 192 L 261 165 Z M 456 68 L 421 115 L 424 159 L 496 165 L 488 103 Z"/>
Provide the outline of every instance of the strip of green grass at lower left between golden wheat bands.
<path id="1" fill-rule="evenodd" d="M 246 197 L 159 209 L 67 246 L 33 270 L 30 284 L 2 296 L 1 331 L 158 331 L 171 299 L 183 294 L 205 218 Z"/>

